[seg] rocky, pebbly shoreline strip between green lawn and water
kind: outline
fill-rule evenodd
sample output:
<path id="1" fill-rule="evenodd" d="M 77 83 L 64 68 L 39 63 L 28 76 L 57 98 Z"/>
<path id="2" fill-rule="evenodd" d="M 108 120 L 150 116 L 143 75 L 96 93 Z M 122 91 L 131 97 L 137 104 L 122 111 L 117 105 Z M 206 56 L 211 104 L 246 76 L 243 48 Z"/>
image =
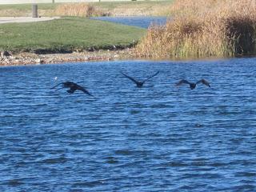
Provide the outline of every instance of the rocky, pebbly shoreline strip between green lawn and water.
<path id="1" fill-rule="evenodd" d="M 123 50 L 94 50 L 73 52 L 70 54 L 33 54 L 22 52 L 12 54 L 3 51 L 0 54 L 0 66 L 45 65 L 63 62 L 113 61 L 118 59 L 134 59 L 134 48 Z"/>

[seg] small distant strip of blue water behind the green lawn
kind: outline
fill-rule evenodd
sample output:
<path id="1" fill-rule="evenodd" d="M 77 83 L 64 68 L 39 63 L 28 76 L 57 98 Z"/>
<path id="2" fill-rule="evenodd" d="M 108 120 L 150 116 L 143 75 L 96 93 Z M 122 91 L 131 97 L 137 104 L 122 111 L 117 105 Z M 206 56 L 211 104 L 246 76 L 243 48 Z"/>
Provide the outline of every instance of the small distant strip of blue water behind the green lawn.
<path id="1" fill-rule="evenodd" d="M 106 22 L 117 22 L 127 26 L 139 26 L 142 28 L 148 28 L 151 24 L 164 25 L 166 24 L 166 17 L 142 17 L 142 16 L 130 16 L 130 17 L 94 17 L 91 19 L 102 20 Z"/>

